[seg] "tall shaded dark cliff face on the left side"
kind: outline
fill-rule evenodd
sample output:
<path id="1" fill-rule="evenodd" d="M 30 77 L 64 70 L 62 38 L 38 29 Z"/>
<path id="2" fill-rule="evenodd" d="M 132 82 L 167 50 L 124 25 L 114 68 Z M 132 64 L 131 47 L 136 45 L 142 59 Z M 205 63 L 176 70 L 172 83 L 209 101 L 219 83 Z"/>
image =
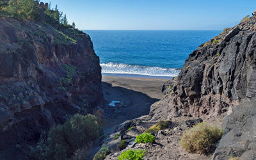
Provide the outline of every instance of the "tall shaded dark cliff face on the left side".
<path id="1" fill-rule="evenodd" d="M 26 159 L 43 131 L 104 102 L 99 57 L 72 28 L 0 19 L 0 81 L 0 159 Z"/>

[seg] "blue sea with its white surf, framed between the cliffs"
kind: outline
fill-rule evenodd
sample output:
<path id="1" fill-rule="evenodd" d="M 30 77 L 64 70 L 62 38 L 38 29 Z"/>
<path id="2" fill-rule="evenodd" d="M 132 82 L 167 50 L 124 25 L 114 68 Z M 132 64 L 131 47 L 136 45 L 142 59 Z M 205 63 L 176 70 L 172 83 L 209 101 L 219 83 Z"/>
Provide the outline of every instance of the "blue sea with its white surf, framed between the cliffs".
<path id="1" fill-rule="evenodd" d="M 221 31 L 85 30 L 100 57 L 102 74 L 175 77 L 198 45 Z"/>

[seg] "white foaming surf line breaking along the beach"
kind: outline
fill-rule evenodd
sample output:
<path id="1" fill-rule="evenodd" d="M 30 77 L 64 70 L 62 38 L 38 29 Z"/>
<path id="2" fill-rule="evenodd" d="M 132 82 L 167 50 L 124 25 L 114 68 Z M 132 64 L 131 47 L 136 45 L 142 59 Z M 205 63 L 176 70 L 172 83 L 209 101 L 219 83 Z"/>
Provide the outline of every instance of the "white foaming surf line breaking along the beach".
<path id="1" fill-rule="evenodd" d="M 180 70 L 175 68 L 145 67 L 126 65 L 122 63 L 100 63 L 102 73 L 106 74 L 135 74 L 145 76 L 176 77 Z"/>

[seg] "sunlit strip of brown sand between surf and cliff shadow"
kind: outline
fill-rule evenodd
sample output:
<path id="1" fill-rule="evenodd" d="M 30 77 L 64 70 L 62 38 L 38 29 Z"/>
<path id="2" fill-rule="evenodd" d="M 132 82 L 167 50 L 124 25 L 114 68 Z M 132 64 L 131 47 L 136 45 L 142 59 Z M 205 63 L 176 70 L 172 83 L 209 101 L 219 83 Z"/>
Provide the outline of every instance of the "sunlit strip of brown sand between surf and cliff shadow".
<path id="1" fill-rule="evenodd" d="M 112 86 L 120 86 L 136 92 L 145 93 L 152 99 L 161 99 L 163 97 L 163 93 L 161 92 L 163 84 L 168 79 L 102 76 L 102 81 L 112 84 Z"/>

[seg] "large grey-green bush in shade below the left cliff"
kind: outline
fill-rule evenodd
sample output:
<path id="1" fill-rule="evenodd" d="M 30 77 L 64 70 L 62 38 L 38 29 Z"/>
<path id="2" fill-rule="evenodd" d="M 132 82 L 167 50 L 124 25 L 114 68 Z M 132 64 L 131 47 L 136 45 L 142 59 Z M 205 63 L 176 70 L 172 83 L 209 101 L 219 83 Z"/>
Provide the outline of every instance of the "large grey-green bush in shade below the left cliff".
<path id="1" fill-rule="evenodd" d="M 102 134 L 102 127 L 93 115 L 72 116 L 65 124 L 52 128 L 31 150 L 34 159 L 67 159 L 88 146 Z"/>

